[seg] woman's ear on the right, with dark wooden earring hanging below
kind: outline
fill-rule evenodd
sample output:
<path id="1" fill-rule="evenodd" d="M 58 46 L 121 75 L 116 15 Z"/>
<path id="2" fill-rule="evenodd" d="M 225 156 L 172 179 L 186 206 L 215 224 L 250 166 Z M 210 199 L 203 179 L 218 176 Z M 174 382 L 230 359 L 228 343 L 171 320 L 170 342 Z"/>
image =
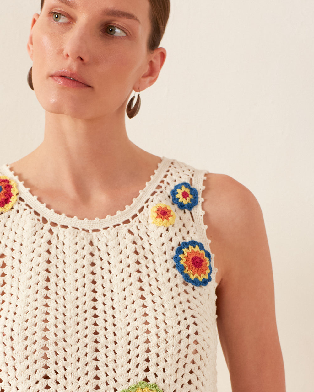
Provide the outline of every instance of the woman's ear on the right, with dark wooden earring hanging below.
<path id="1" fill-rule="evenodd" d="M 159 76 L 159 72 L 161 71 L 161 68 L 166 60 L 166 56 L 167 52 L 164 48 L 157 48 L 153 51 L 153 53 L 151 54 L 150 61 L 148 63 L 148 69 L 141 76 L 139 83 L 134 85 L 134 91 L 138 91 L 139 86 L 140 90 L 143 91 L 156 82 Z"/>

